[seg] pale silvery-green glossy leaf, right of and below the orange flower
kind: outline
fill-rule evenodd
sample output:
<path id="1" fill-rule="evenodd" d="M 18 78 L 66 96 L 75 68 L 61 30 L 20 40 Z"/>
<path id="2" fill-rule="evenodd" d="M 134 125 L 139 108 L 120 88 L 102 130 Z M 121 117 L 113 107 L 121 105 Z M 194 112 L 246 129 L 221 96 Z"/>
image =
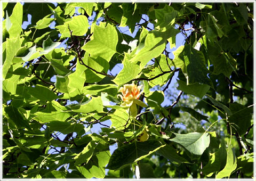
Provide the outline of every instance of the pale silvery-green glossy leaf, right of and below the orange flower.
<path id="1" fill-rule="evenodd" d="M 210 144 L 210 135 L 208 133 L 188 133 L 178 134 L 173 133 L 176 137 L 169 139 L 172 142 L 179 143 L 190 153 L 195 155 L 202 155 L 204 150 Z"/>

